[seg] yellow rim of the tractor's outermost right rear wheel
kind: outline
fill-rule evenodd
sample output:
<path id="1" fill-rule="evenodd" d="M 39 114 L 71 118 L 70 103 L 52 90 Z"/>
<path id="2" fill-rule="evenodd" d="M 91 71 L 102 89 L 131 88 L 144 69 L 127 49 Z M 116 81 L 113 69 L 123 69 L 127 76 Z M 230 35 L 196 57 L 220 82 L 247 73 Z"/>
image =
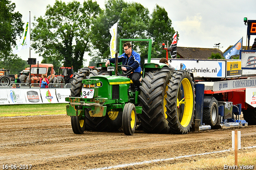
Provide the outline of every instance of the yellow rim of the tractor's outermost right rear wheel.
<path id="1" fill-rule="evenodd" d="M 181 107 L 182 105 L 184 105 L 184 111 L 183 111 L 183 116 L 182 119 L 180 121 L 180 125 L 182 125 L 182 127 L 187 127 L 192 119 L 192 113 L 193 113 L 193 91 L 192 91 L 192 86 L 191 83 L 189 81 L 189 79 L 185 78 L 182 80 L 182 82 L 180 83 L 180 87 L 181 85 L 183 86 L 183 90 L 184 90 L 184 97 L 182 99 L 178 99 L 178 95 L 177 95 L 177 110 L 179 107 Z M 180 87 L 178 89 L 178 94 L 180 91 Z"/>

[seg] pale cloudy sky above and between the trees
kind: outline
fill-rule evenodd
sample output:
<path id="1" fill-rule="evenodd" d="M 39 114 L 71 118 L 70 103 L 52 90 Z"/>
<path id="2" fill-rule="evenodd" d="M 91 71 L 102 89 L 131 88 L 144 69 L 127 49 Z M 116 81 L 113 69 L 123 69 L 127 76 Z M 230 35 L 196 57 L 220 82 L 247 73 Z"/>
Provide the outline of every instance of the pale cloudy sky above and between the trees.
<path id="1" fill-rule="evenodd" d="M 66 3 L 70 1 L 62 0 Z M 84 2 L 84 0 L 77 1 Z M 97 1 L 100 8 L 104 8 L 105 0 L 93 1 Z M 220 43 L 220 50 L 225 51 L 242 37 L 245 46 L 247 26 L 244 25 L 244 17 L 248 20 L 256 20 L 256 2 L 253 0 L 130 0 L 132 1 L 142 4 L 150 13 L 156 4 L 164 7 L 172 20 L 174 30 L 179 33 L 179 47 L 213 48 L 216 43 Z M 29 11 L 31 18 L 44 16 L 46 6 L 48 4 L 53 6 L 55 1 L 11 0 L 11 2 L 16 4 L 15 11 L 20 12 L 23 16 L 22 21 L 26 22 Z M 255 37 L 251 36 L 250 45 Z M 27 60 L 29 49 L 22 49 L 18 56 Z M 31 50 L 31 57 L 37 58 L 39 62 L 42 60 L 34 50 Z M 88 60 L 86 64 L 90 60 L 87 56 L 84 59 Z"/>

